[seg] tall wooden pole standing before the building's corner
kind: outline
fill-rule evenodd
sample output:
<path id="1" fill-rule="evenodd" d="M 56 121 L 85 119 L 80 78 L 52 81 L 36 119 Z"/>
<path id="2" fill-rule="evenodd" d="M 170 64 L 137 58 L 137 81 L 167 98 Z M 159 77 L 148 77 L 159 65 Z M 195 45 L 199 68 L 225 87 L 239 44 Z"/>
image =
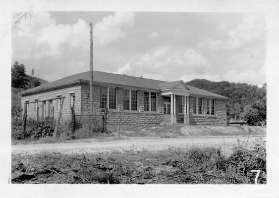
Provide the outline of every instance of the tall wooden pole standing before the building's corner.
<path id="1" fill-rule="evenodd" d="M 93 27 L 90 22 L 90 114 L 94 114 L 94 101 L 93 101 Z"/>

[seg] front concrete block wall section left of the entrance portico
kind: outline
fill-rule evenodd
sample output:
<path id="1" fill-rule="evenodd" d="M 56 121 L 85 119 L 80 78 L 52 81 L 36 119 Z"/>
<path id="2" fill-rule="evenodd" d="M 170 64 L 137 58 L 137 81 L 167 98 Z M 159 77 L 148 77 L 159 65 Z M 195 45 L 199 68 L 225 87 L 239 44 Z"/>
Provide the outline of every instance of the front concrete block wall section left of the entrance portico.
<path id="1" fill-rule="evenodd" d="M 106 87 L 106 86 L 104 86 Z M 100 108 L 100 89 L 101 86 L 94 86 L 94 105 L 95 114 L 103 114 Z M 144 90 L 138 90 L 138 110 L 137 111 L 127 111 L 123 110 L 123 93 L 124 88 L 117 87 L 117 97 L 116 97 L 116 109 L 108 109 L 107 113 L 107 123 L 117 124 L 118 118 L 120 117 L 121 124 L 125 125 L 159 125 L 164 121 L 164 102 L 163 97 L 160 93 L 157 93 L 157 111 L 156 112 L 145 112 L 144 111 Z M 88 98 L 89 86 L 82 85 L 81 88 L 81 103 L 82 114 L 90 113 L 90 103 Z"/>

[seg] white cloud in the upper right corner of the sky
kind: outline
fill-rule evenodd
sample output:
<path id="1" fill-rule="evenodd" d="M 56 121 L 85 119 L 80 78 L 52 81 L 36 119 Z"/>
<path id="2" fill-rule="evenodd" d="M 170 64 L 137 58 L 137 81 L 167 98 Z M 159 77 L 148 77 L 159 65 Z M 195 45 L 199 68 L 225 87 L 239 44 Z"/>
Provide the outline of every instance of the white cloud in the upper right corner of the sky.
<path id="1" fill-rule="evenodd" d="M 225 34 L 228 39 L 203 38 L 197 46 L 214 51 L 239 49 L 245 45 L 261 42 L 265 37 L 264 20 L 257 16 L 246 16 L 237 26 L 227 29 Z"/>

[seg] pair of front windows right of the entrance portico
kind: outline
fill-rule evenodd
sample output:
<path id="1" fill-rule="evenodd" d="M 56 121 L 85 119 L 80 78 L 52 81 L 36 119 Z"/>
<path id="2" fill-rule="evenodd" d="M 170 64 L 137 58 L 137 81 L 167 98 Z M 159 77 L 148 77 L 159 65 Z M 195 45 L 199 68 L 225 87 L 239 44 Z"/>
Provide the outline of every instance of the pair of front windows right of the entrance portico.
<path id="1" fill-rule="evenodd" d="M 193 113 L 203 114 L 203 98 L 193 97 Z M 206 114 L 215 115 L 215 99 L 206 99 Z"/>

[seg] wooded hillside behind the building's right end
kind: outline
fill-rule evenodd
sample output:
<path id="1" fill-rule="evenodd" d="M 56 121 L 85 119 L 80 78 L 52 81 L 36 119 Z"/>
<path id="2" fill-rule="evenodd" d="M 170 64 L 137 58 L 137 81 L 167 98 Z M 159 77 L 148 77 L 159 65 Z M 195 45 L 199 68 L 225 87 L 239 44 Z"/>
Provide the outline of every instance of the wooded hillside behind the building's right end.
<path id="1" fill-rule="evenodd" d="M 236 115 L 246 120 L 250 125 L 266 123 L 266 83 L 261 88 L 246 83 L 212 82 L 205 79 L 195 79 L 185 83 L 228 97 L 226 102 L 227 122 Z"/>

